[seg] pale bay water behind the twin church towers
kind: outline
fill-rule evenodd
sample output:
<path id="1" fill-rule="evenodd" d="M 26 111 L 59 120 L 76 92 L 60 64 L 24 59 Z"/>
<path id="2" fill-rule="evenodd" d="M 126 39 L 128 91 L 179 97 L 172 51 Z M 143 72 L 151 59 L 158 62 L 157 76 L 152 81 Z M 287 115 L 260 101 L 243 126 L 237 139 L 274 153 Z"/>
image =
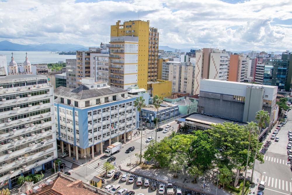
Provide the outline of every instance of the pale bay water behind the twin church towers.
<path id="1" fill-rule="evenodd" d="M 6 55 L 7 65 L 11 61 L 11 52 L 13 52 L 14 61 L 23 63 L 25 61 L 26 51 L 0 51 L 0 55 Z M 76 59 L 76 55 L 59 55 L 54 51 L 27 51 L 27 57 L 31 64 L 38 63 L 57 63 L 66 61 L 66 59 Z"/>

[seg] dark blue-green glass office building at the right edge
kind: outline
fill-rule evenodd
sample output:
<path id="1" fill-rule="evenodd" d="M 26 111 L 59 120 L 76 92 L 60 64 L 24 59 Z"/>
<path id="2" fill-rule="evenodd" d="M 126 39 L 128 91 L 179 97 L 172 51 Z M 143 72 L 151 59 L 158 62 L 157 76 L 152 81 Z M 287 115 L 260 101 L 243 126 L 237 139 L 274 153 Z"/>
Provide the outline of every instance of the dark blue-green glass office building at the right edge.
<path id="1" fill-rule="evenodd" d="M 265 62 L 264 85 L 277 86 L 279 89 L 290 91 L 292 68 L 291 54 L 282 54 L 282 59 L 269 59 Z"/>

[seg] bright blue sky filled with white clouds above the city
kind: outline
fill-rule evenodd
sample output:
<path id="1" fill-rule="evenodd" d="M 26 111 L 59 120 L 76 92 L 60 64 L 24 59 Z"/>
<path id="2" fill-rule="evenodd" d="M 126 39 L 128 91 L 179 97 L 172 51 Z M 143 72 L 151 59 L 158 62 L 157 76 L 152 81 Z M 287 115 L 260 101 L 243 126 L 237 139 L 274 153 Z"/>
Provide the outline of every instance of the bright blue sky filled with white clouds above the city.
<path id="1" fill-rule="evenodd" d="M 292 50 L 292 0 L 0 0 L 0 41 L 97 46 L 117 20 L 137 19 L 161 46 Z"/>

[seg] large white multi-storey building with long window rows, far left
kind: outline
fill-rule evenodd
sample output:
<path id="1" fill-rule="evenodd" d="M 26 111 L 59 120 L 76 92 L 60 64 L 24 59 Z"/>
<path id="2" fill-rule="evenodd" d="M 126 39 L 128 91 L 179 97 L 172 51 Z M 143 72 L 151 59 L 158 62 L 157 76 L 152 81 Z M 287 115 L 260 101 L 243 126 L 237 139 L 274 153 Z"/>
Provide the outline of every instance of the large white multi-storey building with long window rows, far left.
<path id="1" fill-rule="evenodd" d="M 51 170 L 57 158 L 53 87 L 41 75 L 0 77 L 0 178 Z"/>

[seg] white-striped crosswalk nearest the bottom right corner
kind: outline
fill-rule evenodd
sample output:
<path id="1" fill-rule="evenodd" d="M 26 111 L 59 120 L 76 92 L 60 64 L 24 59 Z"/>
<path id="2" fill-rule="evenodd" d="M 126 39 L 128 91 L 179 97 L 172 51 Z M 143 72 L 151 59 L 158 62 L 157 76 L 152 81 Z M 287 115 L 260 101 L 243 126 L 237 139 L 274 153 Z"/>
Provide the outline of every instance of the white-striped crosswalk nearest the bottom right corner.
<path id="1" fill-rule="evenodd" d="M 262 180 L 266 182 L 266 187 L 272 187 L 275 189 L 281 189 L 284 191 L 292 192 L 292 183 L 285 180 L 280 180 L 278 178 L 274 177 L 268 177 L 265 175 L 262 175 Z"/>

